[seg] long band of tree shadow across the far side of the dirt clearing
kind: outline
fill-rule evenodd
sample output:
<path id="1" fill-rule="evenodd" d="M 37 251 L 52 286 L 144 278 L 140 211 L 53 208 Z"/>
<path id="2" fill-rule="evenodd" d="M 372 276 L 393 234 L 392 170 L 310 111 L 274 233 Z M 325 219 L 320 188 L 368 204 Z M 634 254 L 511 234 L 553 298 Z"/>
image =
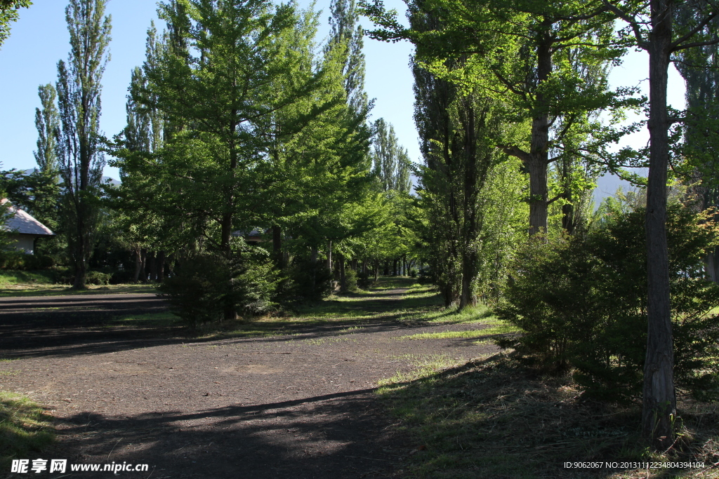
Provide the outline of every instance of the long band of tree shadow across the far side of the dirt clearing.
<path id="1" fill-rule="evenodd" d="M 398 279 L 406 281 L 406 279 Z M 269 317 L 245 324 L 219 325 L 209 333 L 192 332 L 178 322 L 167 320 L 158 327 L 117 327 L 118 318 L 167 315 L 167 303 L 157 297 L 71 297 L 66 299 L 0 299 L 0 358 L 53 357 L 111 353 L 120 350 L 148 348 L 178 343 L 203 343 L 215 340 L 239 342 L 265 336 L 267 343 L 288 340 L 321 340 L 353 334 L 354 338 L 375 332 L 403 332 L 408 329 L 436 327 L 429 322 L 413 320 L 429 308 L 438 307 L 433 297 L 401 299 L 395 292 L 387 299 L 376 294 L 357 298 L 326 301 L 301 310 L 305 317 Z M 43 304 L 38 309 L 37 302 Z M 50 306 L 50 307 L 45 307 Z M 73 309 L 87 307 L 87 310 Z M 447 310 L 436 317 L 454 314 Z M 169 316 L 168 316 L 169 317 Z M 465 322 L 465 321 L 457 321 Z M 443 326 L 452 324 L 444 322 Z M 212 326 L 211 326 L 212 327 Z M 348 331 L 348 328 L 355 330 Z M 202 335 L 203 337 L 196 337 Z"/>

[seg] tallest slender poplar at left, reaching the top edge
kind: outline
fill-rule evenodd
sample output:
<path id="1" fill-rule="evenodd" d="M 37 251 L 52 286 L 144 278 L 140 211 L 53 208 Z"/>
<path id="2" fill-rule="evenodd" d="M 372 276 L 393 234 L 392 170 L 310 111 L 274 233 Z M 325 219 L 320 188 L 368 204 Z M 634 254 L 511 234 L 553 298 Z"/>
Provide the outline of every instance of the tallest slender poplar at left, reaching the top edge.
<path id="1" fill-rule="evenodd" d="M 68 250 L 75 269 L 73 288 L 85 287 L 99 208 L 104 155 L 100 151 L 101 79 L 109 60 L 110 17 L 106 0 L 70 0 L 65 19 L 70 32 L 68 62 L 58 62 L 58 144 L 63 179 Z"/>

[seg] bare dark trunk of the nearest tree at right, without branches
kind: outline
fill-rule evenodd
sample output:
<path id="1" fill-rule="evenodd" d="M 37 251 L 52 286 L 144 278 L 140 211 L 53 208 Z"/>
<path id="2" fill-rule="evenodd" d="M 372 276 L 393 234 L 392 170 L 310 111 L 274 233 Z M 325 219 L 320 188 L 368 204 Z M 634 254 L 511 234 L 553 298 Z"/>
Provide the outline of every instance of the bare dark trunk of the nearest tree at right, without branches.
<path id="1" fill-rule="evenodd" d="M 649 40 L 649 180 L 646 188 L 647 317 L 642 430 L 655 447 L 674 442 L 674 348 L 669 309 L 667 248 L 667 69 L 672 42 L 672 0 L 651 0 Z"/>

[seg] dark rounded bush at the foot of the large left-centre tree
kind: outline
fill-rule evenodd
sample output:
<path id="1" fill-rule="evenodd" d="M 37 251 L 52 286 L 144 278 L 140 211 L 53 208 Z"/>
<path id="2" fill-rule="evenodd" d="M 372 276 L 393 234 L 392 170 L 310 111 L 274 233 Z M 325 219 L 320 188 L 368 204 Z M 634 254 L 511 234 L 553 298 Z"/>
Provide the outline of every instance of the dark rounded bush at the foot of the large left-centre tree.
<path id="1" fill-rule="evenodd" d="M 247 247 L 230 258 L 211 252 L 194 254 L 179 261 L 173 273 L 160 285 L 159 295 L 191 327 L 222 320 L 228 309 L 246 315 L 275 307 L 272 298 L 278 279 L 272 265 L 266 254 Z"/>

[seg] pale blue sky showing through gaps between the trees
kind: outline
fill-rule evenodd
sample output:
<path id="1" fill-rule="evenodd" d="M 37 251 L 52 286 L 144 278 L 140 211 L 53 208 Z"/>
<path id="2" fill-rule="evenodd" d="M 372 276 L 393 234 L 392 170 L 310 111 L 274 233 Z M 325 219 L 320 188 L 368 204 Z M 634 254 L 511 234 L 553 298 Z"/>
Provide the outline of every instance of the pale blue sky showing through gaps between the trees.
<path id="1" fill-rule="evenodd" d="M 329 32 L 330 0 L 318 0 L 321 10 L 318 39 Z M 304 7 L 308 0 L 300 0 Z M 9 39 L 0 47 L 0 167 L 27 169 L 35 167 L 33 150 L 37 149 L 35 108 L 40 106 L 37 87 L 57 80 L 58 60 L 67 60 L 69 35 L 65 24 L 65 1 L 33 0 L 29 9 L 20 11 L 20 19 L 13 24 Z M 400 0 L 385 0 L 388 8 L 400 11 Z M 112 17 L 111 60 L 103 77 L 101 130 L 106 136 L 118 134 L 125 126 L 125 101 L 130 72 L 145 60 L 145 38 L 152 19 L 157 20 L 156 4 L 152 0 L 109 0 L 107 13 Z M 367 19 L 365 28 L 371 28 Z M 158 25 L 160 27 L 160 25 Z M 365 37 L 367 62 L 365 87 L 375 98 L 372 120 L 385 118 L 395 127 L 400 144 L 408 149 L 413 161 L 421 162 L 417 131 L 413 121 L 413 78 L 409 60 L 413 48 L 408 42 L 385 43 Z M 649 67 L 644 52 L 629 52 L 623 65 L 613 69 L 613 87 L 639 85 L 648 94 L 646 80 Z M 684 83 L 670 67 L 668 101 L 674 108 L 684 108 Z M 625 140 L 631 146 L 643 146 L 649 135 L 646 131 Z M 116 169 L 106 167 L 105 174 L 117 178 Z M 620 184 L 615 177 L 600 178 L 595 197 L 615 191 Z"/>

